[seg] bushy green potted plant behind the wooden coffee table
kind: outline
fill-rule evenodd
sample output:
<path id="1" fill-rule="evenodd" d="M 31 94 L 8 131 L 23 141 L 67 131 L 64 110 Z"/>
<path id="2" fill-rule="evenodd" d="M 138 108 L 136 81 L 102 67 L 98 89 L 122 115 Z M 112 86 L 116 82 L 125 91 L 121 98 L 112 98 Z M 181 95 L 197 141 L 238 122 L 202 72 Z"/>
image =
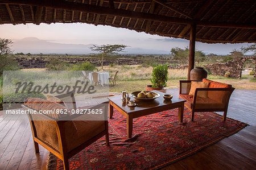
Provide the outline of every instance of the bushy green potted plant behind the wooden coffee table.
<path id="1" fill-rule="evenodd" d="M 168 80 L 168 67 L 167 65 L 158 65 L 152 70 L 152 78 L 150 81 L 152 85 L 147 85 L 146 91 L 160 90 L 166 87 Z"/>

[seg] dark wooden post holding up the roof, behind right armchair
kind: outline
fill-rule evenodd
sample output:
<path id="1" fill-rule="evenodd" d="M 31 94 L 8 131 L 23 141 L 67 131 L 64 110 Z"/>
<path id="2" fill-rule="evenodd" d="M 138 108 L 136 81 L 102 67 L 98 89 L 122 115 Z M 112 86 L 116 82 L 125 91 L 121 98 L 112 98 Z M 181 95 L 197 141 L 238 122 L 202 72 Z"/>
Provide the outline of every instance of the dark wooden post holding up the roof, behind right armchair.
<path id="1" fill-rule="evenodd" d="M 190 71 L 195 65 L 195 46 L 196 46 L 196 24 L 191 24 L 189 38 L 189 59 L 188 59 L 188 80 L 190 80 Z"/>

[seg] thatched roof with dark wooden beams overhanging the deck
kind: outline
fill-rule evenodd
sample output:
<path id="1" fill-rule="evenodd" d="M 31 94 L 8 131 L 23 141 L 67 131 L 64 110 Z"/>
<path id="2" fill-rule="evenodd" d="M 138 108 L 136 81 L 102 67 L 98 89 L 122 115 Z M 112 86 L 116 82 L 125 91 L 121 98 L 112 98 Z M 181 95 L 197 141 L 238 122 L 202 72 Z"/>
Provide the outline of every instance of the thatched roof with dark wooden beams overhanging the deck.
<path id="1" fill-rule="evenodd" d="M 0 0 L 0 24 L 78 22 L 184 39 L 196 24 L 196 41 L 251 43 L 255 5 L 255 0 Z"/>

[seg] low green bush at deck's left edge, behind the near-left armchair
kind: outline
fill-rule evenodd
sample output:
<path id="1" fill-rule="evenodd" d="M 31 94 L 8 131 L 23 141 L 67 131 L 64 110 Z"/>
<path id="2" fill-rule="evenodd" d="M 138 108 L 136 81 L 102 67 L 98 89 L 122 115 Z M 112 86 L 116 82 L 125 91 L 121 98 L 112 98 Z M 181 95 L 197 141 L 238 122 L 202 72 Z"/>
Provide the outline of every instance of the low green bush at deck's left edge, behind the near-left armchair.
<path id="1" fill-rule="evenodd" d="M 5 109 L 13 109 L 12 107 L 15 105 L 15 103 L 22 104 L 23 101 L 25 101 L 28 97 L 36 97 L 36 98 L 43 98 L 46 99 L 46 97 L 42 93 L 38 92 L 24 92 L 24 93 L 9 93 L 5 94 L 4 98 L 3 96 L 0 97 L 0 105 L 3 109 L 3 103 L 5 103 Z M 1 99 L 2 98 L 2 99 Z"/>

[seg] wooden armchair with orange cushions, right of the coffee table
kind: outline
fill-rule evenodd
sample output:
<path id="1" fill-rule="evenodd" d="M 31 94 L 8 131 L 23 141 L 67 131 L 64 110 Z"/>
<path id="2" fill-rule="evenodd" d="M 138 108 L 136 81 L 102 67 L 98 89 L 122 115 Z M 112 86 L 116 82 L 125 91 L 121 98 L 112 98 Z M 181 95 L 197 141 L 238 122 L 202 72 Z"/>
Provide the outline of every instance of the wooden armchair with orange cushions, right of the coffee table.
<path id="1" fill-rule="evenodd" d="M 196 88 L 193 95 L 189 95 L 193 82 L 208 82 L 209 88 Z M 195 86 L 193 87 L 195 88 Z M 224 111 L 223 121 L 226 121 L 229 98 L 235 88 L 232 85 L 208 80 L 180 80 L 179 97 L 187 100 L 184 105 L 192 111 L 191 121 L 194 119 L 195 112 L 203 111 Z"/>

